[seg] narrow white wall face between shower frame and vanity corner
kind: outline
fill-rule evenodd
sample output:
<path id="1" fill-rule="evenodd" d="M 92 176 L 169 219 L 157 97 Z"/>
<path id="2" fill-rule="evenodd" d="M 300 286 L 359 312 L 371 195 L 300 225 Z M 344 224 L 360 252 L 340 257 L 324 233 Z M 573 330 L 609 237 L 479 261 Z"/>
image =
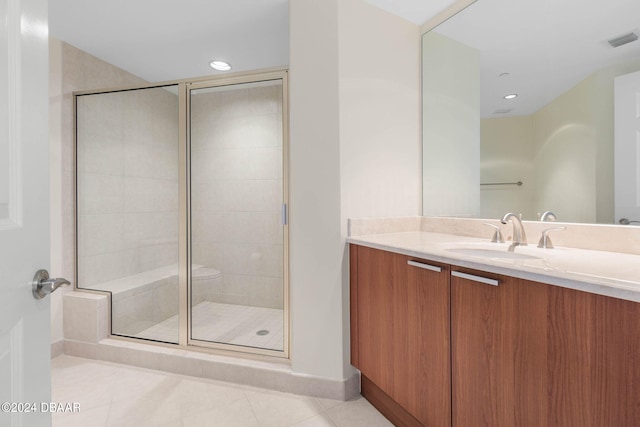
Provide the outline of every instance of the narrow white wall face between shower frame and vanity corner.
<path id="1" fill-rule="evenodd" d="M 291 359 L 345 378 L 337 0 L 289 2 Z"/>

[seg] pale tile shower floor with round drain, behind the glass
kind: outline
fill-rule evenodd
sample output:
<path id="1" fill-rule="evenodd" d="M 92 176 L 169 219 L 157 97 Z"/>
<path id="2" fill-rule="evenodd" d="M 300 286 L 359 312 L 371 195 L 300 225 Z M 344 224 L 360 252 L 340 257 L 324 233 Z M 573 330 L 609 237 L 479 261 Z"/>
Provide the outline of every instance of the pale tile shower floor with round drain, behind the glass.
<path id="1" fill-rule="evenodd" d="M 271 350 L 283 348 L 282 310 L 203 301 L 193 307 L 191 317 L 193 339 Z M 143 330 L 136 336 L 175 342 L 177 331 L 176 315 Z"/>

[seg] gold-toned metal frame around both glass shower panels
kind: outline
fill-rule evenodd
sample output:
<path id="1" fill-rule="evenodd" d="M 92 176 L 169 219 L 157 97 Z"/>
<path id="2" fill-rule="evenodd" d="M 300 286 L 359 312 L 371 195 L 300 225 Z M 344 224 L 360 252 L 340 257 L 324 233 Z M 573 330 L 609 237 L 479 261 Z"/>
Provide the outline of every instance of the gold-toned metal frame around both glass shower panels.
<path id="1" fill-rule="evenodd" d="M 229 73 L 220 76 L 206 76 L 193 79 L 174 80 L 161 83 L 151 83 L 143 85 L 123 86 L 116 88 L 79 91 L 73 93 L 73 128 L 74 128 L 74 141 L 73 141 L 73 158 L 74 158 L 74 179 L 73 179 L 73 193 L 74 193 L 74 229 L 75 229 L 75 289 L 82 292 L 96 292 L 107 293 L 111 297 L 111 292 L 98 291 L 82 288 L 78 283 L 78 140 L 77 140 L 77 99 L 83 95 L 96 95 L 101 93 L 113 93 L 113 92 L 125 92 L 138 89 L 153 89 L 162 88 L 166 86 L 178 87 L 178 149 L 179 149 L 179 274 L 178 274 L 178 292 L 179 292 L 179 333 L 178 343 L 165 343 L 154 342 L 146 339 L 127 337 L 121 335 L 112 335 L 112 322 L 111 322 L 111 307 L 109 307 L 109 337 L 125 341 L 133 342 L 145 342 L 153 345 L 160 345 L 170 348 L 180 348 L 195 351 L 205 352 L 217 352 L 223 354 L 235 354 L 244 353 L 253 355 L 256 357 L 268 356 L 276 357 L 279 359 L 290 358 L 290 297 L 289 297 L 289 224 L 288 220 L 283 224 L 283 314 L 284 314 L 284 342 L 283 350 L 270 350 L 255 347 L 246 347 L 233 344 L 214 343 L 209 341 L 202 341 L 192 339 L 190 336 L 191 331 L 191 141 L 190 141 L 190 91 L 193 89 L 202 89 L 209 87 L 221 87 L 228 85 L 237 85 L 242 83 L 256 83 L 262 81 L 282 81 L 282 177 L 283 177 L 283 206 L 286 209 L 286 215 L 288 216 L 289 206 L 289 86 L 288 86 L 288 70 L 286 68 L 271 68 L 266 70 L 257 70 L 252 72 L 237 72 Z M 109 298 L 109 304 L 111 304 L 111 298 Z"/>

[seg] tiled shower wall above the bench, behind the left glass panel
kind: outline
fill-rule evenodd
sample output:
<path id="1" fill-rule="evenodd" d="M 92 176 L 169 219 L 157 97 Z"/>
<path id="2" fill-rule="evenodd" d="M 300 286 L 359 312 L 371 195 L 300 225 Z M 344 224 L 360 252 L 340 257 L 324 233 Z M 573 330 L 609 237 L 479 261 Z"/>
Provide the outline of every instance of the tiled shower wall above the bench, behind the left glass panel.
<path id="1" fill-rule="evenodd" d="M 79 97 L 79 286 L 177 265 L 178 224 L 177 94 Z"/>

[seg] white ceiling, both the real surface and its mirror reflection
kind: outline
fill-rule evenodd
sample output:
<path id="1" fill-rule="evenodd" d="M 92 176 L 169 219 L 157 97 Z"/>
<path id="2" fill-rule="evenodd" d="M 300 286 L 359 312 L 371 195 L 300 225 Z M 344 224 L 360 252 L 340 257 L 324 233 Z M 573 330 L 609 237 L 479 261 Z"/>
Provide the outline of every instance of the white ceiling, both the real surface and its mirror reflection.
<path id="1" fill-rule="evenodd" d="M 454 0 L 365 0 L 423 24 Z M 50 33 L 147 81 L 289 63 L 289 0 L 49 0 Z M 616 58 L 640 58 L 640 41 L 606 40 L 639 31 L 640 1 L 479 0 L 436 31 L 481 53 L 482 115 L 537 111 Z M 639 31 L 640 32 L 640 31 Z M 499 77 L 509 73 L 508 77 Z M 518 93 L 514 101 L 502 98 Z"/>

